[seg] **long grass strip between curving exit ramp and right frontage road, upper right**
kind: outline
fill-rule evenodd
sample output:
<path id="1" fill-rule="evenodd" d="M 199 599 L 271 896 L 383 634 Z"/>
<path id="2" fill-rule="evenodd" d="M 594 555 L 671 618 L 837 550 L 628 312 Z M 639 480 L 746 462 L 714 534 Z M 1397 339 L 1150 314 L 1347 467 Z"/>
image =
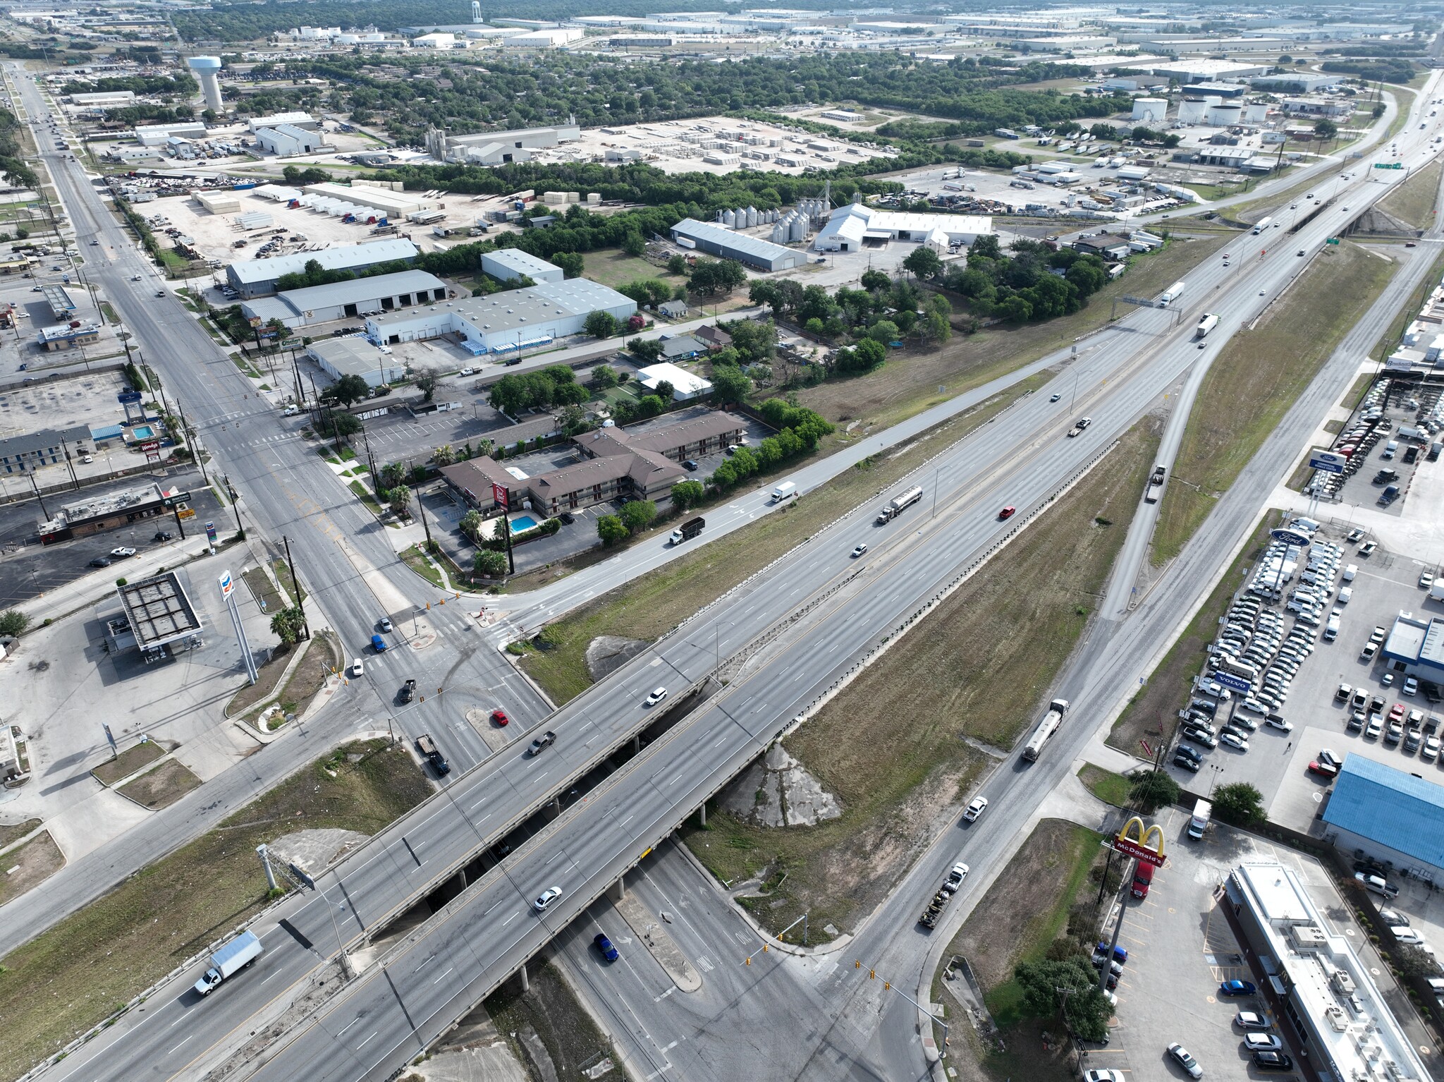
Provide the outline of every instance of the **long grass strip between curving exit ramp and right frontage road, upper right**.
<path id="1" fill-rule="evenodd" d="M 1287 253 L 1279 259 L 1287 257 Z M 1152 563 L 1177 556 L 1379 293 L 1398 263 L 1354 244 L 1317 256 L 1199 389 L 1158 510 Z"/>

